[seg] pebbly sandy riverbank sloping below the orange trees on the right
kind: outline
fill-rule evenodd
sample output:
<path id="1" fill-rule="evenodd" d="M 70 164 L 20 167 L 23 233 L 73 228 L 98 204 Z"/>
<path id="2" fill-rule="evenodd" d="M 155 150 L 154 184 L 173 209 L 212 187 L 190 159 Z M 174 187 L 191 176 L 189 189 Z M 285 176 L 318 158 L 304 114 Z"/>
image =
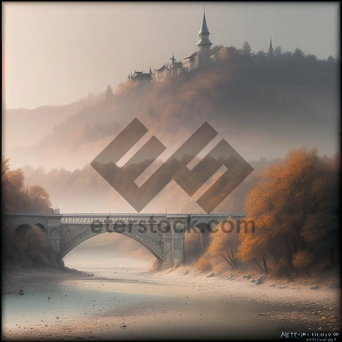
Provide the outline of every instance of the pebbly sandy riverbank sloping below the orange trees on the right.
<path id="1" fill-rule="evenodd" d="M 248 299 L 259 303 L 282 303 L 291 307 L 301 307 L 300 311 L 264 313 L 264 318 L 289 319 L 296 322 L 307 322 L 319 330 L 340 330 L 341 328 L 341 288 L 332 286 L 327 281 L 320 284 L 318 289 L 314 281 L 288 281 L 283 279 L 268 280 L 267 277 L 258 284 L 263 275 L 254 276 L 236 270 L 225 272 L 221 276 L 212 276 L 213 272 L 196 274 L 193 267 L 181 266 L 175 270 L 167 270 L 156 275 L 162 275 L 170 284 L 192 286 L 198 291 L 214 291 L 225 297 Z M 253 275 L 253 274 L 252 274 Z M 248 277 L 246 277 L 248 276 Z M 340 282 L 334 278 L 336 285 Z M 306 307 L 315 306 L 316 310 L 307 311 Z M 312 328 L 313 329 L 313 328 Z"/>

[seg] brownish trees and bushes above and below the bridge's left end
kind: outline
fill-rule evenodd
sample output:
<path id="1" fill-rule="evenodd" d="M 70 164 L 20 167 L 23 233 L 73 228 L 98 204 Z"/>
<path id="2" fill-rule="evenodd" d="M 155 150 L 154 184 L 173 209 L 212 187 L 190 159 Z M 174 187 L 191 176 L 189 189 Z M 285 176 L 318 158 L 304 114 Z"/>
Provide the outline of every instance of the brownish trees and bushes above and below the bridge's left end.
<path id="1" fill-rule="evenodd" d="M 1 158 L 1 210 L 3 212 L 53 213 L 50 196 L 38 184 L 25 187 L 21 168 L 10 169 L 10 158 Z M 46 232 L 38 226 L 17 229 L 1 222 L 1 252 L 6 268 L 49 266 Z"/>

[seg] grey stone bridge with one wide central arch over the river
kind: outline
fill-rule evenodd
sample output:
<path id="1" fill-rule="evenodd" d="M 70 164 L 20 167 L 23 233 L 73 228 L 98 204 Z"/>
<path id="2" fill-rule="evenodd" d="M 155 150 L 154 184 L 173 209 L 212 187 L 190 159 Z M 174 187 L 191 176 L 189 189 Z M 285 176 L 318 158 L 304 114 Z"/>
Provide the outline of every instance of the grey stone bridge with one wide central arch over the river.
<path id="1" fill-rule="evenodd" d="M 169 265 L 184 264 L 184 233 L 201 231 L 203 241 L 217 224 L 244 218 L 244 213 L 222 214 L 45 214 L 6 213 L 10 227 L 25 234 L 39 226 L 47 235 L 50 260 L 60 263 L 81 242 L 103 233 L 126 235 Z"/>

